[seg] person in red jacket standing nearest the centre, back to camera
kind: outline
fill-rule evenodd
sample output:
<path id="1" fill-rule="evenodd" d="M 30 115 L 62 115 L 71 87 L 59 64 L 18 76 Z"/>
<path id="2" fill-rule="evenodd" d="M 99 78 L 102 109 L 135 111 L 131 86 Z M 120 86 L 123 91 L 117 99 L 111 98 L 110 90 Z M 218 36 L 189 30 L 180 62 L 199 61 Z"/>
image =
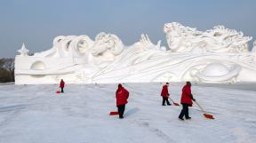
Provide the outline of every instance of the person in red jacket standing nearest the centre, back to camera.
<path id="1" fill-rule="evenodd" d="M 116 107 L 118 108 L 119 118 L 124 118 L 125 104 L 128 103 L 129 91 L 125 90 L 121 83 L 118 84 L 118 89 L 116 90 Z"/>

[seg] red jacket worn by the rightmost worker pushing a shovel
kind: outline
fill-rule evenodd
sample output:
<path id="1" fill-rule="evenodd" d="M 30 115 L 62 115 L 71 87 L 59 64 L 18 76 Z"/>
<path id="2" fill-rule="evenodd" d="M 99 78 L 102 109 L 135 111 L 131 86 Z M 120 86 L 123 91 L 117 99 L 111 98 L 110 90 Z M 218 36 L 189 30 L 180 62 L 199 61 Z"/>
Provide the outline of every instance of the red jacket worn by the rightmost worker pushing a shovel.
<path id="1" fill-rule="evenodd" d="M 191 94 L 191 86 L 189 85 L 183 86 L 180 103 L 188 104 L 189 106 L 192 106 L 193 104 L 192 99 L 193 99 L 193 95 Z"/>

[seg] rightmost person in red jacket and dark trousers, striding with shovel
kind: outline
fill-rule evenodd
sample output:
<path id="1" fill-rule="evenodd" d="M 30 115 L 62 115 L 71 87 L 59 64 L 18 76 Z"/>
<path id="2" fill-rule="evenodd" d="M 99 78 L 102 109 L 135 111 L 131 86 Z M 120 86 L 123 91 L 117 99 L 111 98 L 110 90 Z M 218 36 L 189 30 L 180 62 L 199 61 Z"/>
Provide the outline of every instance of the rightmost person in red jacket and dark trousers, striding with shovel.
<path id="1" fill-rule="evenodd" d="M 187 82 L 185 86 L 182 88 L 182 94 L 180 103 L 182 104 L 182 110 L 180 112 L 179 118 L 180 120 L 184 120 L 183 116 L 185 115 L 186 119 L 190 119 L 191 117 L 188 115 L 188 107 L 192 107 L 192 100 L 196 101 L 196 99 L 193 98 L 193 95 L 191 93 L 191 83 Z"/>

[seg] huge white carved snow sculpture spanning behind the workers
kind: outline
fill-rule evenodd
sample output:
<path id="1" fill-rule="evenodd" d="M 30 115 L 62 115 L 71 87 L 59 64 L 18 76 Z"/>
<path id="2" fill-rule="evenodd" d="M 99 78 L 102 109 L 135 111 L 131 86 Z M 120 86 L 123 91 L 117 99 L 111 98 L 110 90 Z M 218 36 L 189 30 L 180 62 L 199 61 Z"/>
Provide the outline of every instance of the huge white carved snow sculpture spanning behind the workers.
<path id="1" fill-rule="evenodd" d="M 164 25 L 169 49 L 148 35 L 124 46 L 112 34 L 57 36 L 52 49 L 28 56 L 25 46 L 15 58 L 15 83 L 256 82 L 252 37 L 223 26 L 205 32 L 172 22 Z"/>

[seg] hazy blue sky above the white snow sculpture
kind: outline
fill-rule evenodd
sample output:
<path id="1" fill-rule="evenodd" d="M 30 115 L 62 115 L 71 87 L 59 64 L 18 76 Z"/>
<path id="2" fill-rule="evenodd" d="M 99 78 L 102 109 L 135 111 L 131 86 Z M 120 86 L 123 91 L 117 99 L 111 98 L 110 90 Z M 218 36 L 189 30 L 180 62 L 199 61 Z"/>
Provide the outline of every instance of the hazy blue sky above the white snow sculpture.
<path id="1" fill-rule="evenodd" d="M 14 58 L 22 43 L 41 52 L 52 47 L 55 36 L 94 39 L 101 31 L 116 34 L 126 45 L 142 33 L 166 44 L 163 26 L 173 21 L 198 30 L 224 25 L 254 41 L 255 7 L 255 0 L 2 0 L 0 58 Z"/>

